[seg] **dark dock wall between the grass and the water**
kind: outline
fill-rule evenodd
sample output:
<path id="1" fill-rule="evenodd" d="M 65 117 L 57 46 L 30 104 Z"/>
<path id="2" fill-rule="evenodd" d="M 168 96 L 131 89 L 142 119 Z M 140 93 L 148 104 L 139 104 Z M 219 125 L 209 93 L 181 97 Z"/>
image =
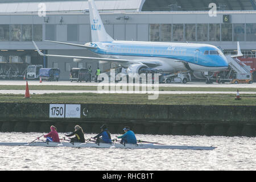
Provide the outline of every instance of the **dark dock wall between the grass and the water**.
<path id="1" fill-rule="evenodd" d="M 130 126 L 135 133 L 172 135 L 256 136 L 255 106 L 109 105 L 81 104 L 80 119 L 49 118 L 49 104 L 0 104 L 1 131 L 59 132 L 81 125 L 97 133 L 108 123 L 111 133 Z"/>

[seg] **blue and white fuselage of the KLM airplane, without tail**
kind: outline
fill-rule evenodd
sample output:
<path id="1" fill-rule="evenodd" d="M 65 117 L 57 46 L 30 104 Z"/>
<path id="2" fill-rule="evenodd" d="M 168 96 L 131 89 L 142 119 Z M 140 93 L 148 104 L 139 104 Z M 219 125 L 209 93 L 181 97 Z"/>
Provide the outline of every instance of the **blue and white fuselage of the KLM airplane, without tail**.
<path id="1" fill-rule="evenodd" d="M 208 44 L 113 41 L 90 43 L 90 46 L 96 48 L 90 51 L 105 58 L 157 61 L 159 65 L 154 68 L 164 72 L 189 69 L 214 72 L 228 68 L 220 49 Z"/>

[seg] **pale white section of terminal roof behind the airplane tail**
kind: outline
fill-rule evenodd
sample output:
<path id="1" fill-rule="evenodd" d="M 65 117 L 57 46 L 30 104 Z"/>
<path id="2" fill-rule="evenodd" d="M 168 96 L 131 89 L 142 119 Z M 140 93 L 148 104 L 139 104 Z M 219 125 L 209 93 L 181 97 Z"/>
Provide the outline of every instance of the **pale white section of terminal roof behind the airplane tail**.
<path id="1" fill-rule="evenodd" d="M 138 12 L 145 0 L 96 0 L 100 12 Z M 36 13 L 39 3 L 45 3 L 46 12 L 88 11 L 88 1 L 40 1 L 40 0 L 0 0 L 0 13 Z"/>

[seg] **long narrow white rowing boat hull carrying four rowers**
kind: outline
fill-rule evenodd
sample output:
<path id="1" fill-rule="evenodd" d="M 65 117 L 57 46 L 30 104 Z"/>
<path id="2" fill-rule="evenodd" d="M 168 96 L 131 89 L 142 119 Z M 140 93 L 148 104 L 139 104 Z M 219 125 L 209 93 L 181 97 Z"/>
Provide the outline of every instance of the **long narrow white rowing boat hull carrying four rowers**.
<path id="1" fill-rule="evenodd" d="M 180 150 L 214 150 L 217 147 L 203 146 L 168 146 L 154 143 L 121 144 L 121 143 L 80 143 L 80 142 L 32 142 L 32 143 L 0 143 L 0 146 L 43 146 L 43 147 L 94 147 L 94 148 L 155 148 Z"/>

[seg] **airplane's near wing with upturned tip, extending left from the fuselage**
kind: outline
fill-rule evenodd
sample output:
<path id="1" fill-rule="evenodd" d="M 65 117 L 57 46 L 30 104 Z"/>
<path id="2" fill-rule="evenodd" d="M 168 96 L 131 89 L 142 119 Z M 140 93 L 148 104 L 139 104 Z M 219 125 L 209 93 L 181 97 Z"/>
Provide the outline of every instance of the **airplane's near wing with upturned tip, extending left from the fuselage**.
<path id="1" fill-rule="evenodd" d="M 36 46 L 35 42 L 32 41 L 36 51 L 38 51 L 39 55 L 41 56 L 53 56 L 53 57 L 66 57 L 66 58 L 75 58 L 75 59 L 85 59 L 85 60 L 96 60 L 96 61 L 107 61 L 110 63 L 120 63 L 120 64 L 145 64 L 149 67 L 156 67 L 157 65 L 160 65 L 157 61 L 147 61 L 147 60 L 126 60 L 126 59 L 117 59 L 117 58 L 102 58 L 102 57 L 85 57 L 85 56 L 65 56 L 65 55 L 46 55 L 43 52 L 41 52 Z"/>

